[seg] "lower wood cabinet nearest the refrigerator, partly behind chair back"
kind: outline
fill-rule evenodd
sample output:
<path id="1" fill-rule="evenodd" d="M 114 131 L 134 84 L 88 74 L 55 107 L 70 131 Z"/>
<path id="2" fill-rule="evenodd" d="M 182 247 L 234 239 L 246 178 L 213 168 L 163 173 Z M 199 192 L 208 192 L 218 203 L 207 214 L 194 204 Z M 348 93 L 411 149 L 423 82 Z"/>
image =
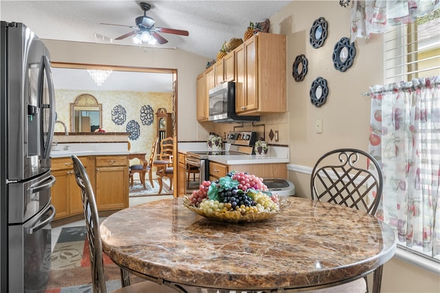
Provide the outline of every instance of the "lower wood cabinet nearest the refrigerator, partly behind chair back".
<path id="1" fill-rule="evenodd" d="M 87 169 L 88 157 L 82 156 L 79 159 Z M 70 157 L 52 159 L 52 175 L 56 178 L 51 190 L 52 204 L 56 209 L 55 220 L 83 213 L 81 189 L 76 183 L 72 159 Z"/>

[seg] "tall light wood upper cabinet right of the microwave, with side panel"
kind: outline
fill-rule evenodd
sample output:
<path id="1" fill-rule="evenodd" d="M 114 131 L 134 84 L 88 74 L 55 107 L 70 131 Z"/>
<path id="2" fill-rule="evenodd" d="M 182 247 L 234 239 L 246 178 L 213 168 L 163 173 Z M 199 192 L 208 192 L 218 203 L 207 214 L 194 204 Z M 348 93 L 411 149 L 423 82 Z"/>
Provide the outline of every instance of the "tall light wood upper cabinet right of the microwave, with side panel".
<path id="1" fill-rule="evenodd" d="M 287 111 L 285 36 L 260 32 L 235 50 L 239 115 Z"/>

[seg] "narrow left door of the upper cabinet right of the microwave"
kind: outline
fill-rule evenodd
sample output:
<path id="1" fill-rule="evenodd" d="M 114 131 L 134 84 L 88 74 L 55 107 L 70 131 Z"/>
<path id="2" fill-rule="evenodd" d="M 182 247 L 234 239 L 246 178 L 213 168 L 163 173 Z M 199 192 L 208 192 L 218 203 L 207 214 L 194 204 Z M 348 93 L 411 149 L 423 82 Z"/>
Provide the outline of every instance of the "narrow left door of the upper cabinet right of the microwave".
<path id="1" fill-rule="evenodd" d="M 236 47 L 235 51 L 235 112 L 245 110 L 245 45 Z"/>

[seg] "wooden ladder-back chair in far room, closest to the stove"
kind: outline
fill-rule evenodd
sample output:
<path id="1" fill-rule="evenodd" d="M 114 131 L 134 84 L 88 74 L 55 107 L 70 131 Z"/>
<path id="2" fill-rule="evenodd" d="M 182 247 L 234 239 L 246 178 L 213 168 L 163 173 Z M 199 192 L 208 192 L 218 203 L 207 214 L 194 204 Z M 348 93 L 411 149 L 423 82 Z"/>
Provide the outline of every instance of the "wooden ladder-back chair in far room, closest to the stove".
<path id="1" fill-rule="evenodd" d="M 174 174 L 174 138 L 166 137 L 160 141 L 159 160 L 153 161 L 153 165 L 157 167 L 156 175 L 159 177 L 159 194 L 162 192 L 163 179 L 170 180 L 170 189 L 173 189 Z"/>

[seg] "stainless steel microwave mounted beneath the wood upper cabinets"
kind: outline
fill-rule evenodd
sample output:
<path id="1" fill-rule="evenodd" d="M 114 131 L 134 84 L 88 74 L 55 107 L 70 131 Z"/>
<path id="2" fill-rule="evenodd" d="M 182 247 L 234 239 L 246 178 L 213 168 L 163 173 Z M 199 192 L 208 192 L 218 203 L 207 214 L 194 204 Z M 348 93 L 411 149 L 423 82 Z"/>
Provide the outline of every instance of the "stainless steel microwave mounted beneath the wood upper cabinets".
<path id="1" fill-rule="evenodd" d="M 235 82 L 224 82 L 209 90 L 209 120 L 223 123 L 260 121 L 259 116 L 235 113 Z"/>

